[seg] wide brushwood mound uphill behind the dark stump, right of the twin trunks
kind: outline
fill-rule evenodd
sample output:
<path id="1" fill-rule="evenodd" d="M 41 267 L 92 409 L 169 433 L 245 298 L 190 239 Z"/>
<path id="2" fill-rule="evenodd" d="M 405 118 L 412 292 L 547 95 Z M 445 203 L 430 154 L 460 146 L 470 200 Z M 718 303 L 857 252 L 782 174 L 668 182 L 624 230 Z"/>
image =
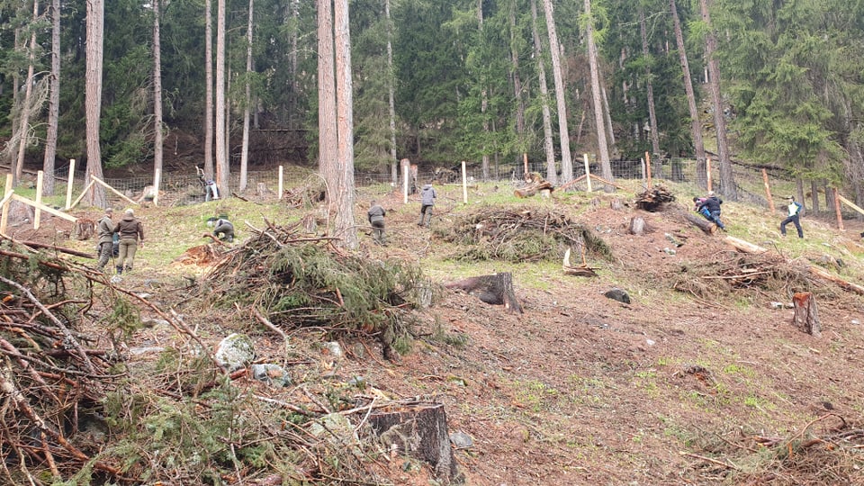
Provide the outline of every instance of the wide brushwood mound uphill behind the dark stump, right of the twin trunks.
<path id="1" fill-rule="evenodd" d="M 444 235 L 466 247 L 457 258 L 508 262 L 561 261 L 567 247 L 608 260 L 612 250 L 590 229 L 542 208 L 486 208 L 456 220 Z"/>

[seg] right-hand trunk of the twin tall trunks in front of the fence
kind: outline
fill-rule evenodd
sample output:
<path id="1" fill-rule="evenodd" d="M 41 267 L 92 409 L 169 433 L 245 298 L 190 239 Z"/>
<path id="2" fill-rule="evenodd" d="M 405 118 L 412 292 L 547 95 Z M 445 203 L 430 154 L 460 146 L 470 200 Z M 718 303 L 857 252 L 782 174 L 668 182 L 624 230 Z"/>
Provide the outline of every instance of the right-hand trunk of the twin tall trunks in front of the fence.
<path id="1" fill-rule="evenodd" d="M 351 79 L 351 31 L 348 0 L 336 0 L 333 9 L 336 35 L 336 113 L 338 132 L 338 192 L 336 232 L 344 247 L 357 247 L 354 220 L 354 94 Z"/>

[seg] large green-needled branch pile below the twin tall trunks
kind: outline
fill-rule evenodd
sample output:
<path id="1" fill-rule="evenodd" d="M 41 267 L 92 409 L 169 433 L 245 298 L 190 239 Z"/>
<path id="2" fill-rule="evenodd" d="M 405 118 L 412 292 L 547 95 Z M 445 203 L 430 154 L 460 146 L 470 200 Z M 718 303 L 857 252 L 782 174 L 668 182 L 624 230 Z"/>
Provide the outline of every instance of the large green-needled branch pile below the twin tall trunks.
<path id="1" fill-rule="evenodd" d="M 227 253 L 205 276 L 208 304 L 237 302 L 276 326 L 376 336 L 389 353 L 404 335 L 407 311 L 427 300 L 430 287 L 419 268 L 347 255 L 333 238 L 309 238 L 299 226 L 268 222 Z"/>

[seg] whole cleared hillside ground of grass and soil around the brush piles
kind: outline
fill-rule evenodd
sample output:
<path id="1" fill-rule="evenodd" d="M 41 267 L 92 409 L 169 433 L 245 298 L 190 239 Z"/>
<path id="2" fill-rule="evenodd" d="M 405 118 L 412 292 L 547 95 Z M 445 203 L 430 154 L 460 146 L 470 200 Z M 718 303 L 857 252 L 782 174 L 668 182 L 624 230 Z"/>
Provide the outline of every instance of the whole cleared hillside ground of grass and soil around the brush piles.
<path id="1" fill-rule="evenodd" d="M 613 194 L 519 200 L 512 188 L 482 184 L 467 206 L 461 204 L 461 187 L 438 189 L 431 230 L 417 226 L 416 199 L 403 205 L 382 186 L 362 189 L 358 196 L 361 228 L 367 202 L 383 203 L 389 240 L 379 247 L 361 233 L 359 257 L 418 265 L 436 285 L 432 305 L 411 312 L 413 339 L 401 349 L 407 352 L 392 361 L 369 338 L 344 338 L 346 356 L 332 356 L 324 346 L 328 330 L 321 327 L 284 329 L 284 343 L 239 306 L 211 305 L 208 294 L 232 284 L 208 280 L 212 266 L 175 262 L 186 249 L 207 243 L 202 233 L 210 216 L 234 220 L 235 247 L 242 247 L 253 237 L 251 227 L 266 228 L 265 220 L 290 226 L 311 211 L 284 202 L 250 197 L 249 202 L 140 208 L 136 214 L 145 221 L 146 244 L 134 272 L 113 285 L 148 293 L 166 313 L 175 310 L 208 347 L 232 332 L 247 332 L 255 339 L 257 362 L 289 364 L 292 387 L 266 388 L 243 376 L 234 382 L 241 393 L 311 409 L 323 408 L 322 397 L 333 393 L 381 401 L 422 396 L 443 403 L 449 431 L 473 441 L 455 450 L 467 484 L 864 483 L 864 297 L 807 271 L 824 265 L 846 280 L 864 282 L 861 229 L 854 223 L 839 233 L 828 222 L 805 218 L 806 239 L 780 238 L 779 215 L 726 202 L 727 234 L 770 248 L 767 256 L 747 257 L 726 245 L 724 234 L 708 236 L 681 219 L 695 195 L 686 188 L 673 188 L 680 192 L 678 202 L 658 212 L 634 208 L 636 186 Z M 616 198 L 625 202 L 620 210 L 610 207 Z M 522 263 L 482 260 L 477 257 L 482 252 L 466 257 L 464 244 L 455 243 L 451 232 L 466 215 L 489 208 L 562 215 L 605 242 L 611 257 L 587 255 L 597 277 L 563 275 L 557 252 Z M 95 219 L 98 212 L 76 215 Z M 634 216 L 646 221 L 642 236 L 627 231 Z M 65 222 L 50 218 L 39 231 L 16 227 L 14 237 L 92 251 L 92 241 L 66 239 L 68 230 Z M 496 272 L 514 275 L 524 313 L 438 286 Z M 631 302 L 605 297 L 613 288 L 625 290 Z M 820 338 L 795 329 L 792 310 L 772 305 L 791 302 L 793 293 L 804 291 L 815 294 Z M 142 309 L 142 318 L 158 317 Z M 183 333 L 164 326 L 137 329 L 128 344 L 179 353 L 188 345 Z M 111 345 L 103 337 L 90 347 Z M 157 359 L 165 357 L 132 355 L 130 368 L 150 369 Z M 187 379 L 187 373 L 178 370 L 176 379 Z M 362 387 L 346 387 L 358 377 Z M 145 409 L 157 410 L 156 401 Z M 267 422 L 266 415 L 246 419 Z M 351 419 L 357 427 L 365 420 L 362 414 Z M 224 440 L 232 451 L 244 446 Z M 289 453 L 291 440 L 278 431 L 262 440 L 285 447 L 285 464 L 314 449 Z M 140 457 L 157 464 L 146 445 L 139 447 Z M 367 454 L 358 464 L 343 458 L 340 466 L 367 484 L 429 483 L 428 466 Z M 238 463 L 221 464 L 224 484 L 240 483 L 238 476 L 244 484 L 294 484 L 305 474 L 242 455 Z M 189 483 L 184 474 L 193 470 L 190 464 L 176 466 L 173 481 Z M 167 469 L 151 473 L 150 480 L 172 481 Z M 264 482 L 267 478 L 277 482 Z M 314 474 L 306 481 L 341 483 Z"/>

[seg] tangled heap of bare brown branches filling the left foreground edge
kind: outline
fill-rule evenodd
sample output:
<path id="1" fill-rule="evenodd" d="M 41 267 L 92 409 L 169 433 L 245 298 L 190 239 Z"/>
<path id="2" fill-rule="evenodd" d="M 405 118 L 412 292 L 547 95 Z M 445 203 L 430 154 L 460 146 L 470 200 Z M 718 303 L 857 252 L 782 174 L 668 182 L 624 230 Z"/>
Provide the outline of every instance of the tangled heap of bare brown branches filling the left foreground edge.
<path id="1" fill-rule="evenodd" d="M 103 275 L 84 267 L 10 240 L 0 255 L 0 448 L 16 466 L 4 464 L 0 482 L 32 484 L 31 470 L 43 469 L 62 478 L 85 464 L 116 477 L 119 469 L 96 460 L 79 429 L 103 420 L 120 360 L 113 348 L 92 348 L 99 337 L 85 329 L 98 320 L 102 335 L 121 334 L 139 321 L 137 311 L 115 294 L 106 297 L 107 312 L 94 311 L 94 282 Z"/>

